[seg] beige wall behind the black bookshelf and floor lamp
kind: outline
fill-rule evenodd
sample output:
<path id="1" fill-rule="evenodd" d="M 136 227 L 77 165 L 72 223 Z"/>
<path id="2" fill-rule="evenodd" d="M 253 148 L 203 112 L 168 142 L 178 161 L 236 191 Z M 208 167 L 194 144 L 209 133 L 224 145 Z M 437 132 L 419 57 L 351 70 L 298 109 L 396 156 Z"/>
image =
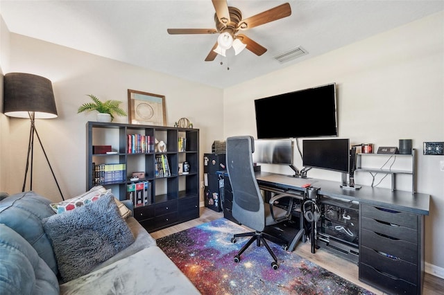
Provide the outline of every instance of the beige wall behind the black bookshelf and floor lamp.
<path id="1" fill-rule="evenodd" d="M 173 126 L 179 118 L 186 117 L 200 129 L 200 158 L 203 153 L 211 152 L 214 140 L 223 139 L 222 112 L 215 111 L 223 109 L 221 89 L 13 33 L 10 34 L 9 61 L 10 66 L 3 68 L 4 73 L 33 73 L 53 82 L 59 116 L 37 120 L 36 126 L 65 199 L 86 188 L 85 123 L 96 120 L 95 113 L 77 114 L 79 105 L 90 101 L 86 94 L 103 100 L 122 100 L 123 109 L 127 109 L 128 89 L 164 95 L 167 125 Z M 1 148 L 5 157 L 1 159 L 0 169 L 7 173 L 2 177 L 0 191 L 16 193 L 22 190 L 30 123 L 0 116 L 2 123 L 8 123 L 5 127 L 2 124 Z M 128 123 L 128 117 L 116 117 L 114 122 Z M 3 141 L 3 134 L 10 134 L 8 142 Z M 10 162 L 3 162 L 4 159 Z M 34 166 L 33 190 L 54 201 L 60 200 L 56 182 L 37 142 Z"/>

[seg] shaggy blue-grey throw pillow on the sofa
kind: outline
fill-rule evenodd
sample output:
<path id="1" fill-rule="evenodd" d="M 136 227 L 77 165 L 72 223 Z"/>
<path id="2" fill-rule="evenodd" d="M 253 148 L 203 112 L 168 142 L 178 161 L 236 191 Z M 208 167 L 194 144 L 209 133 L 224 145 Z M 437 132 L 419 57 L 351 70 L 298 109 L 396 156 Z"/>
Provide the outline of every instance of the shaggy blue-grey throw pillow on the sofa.
<path id="1" fill-rule="evenodd" d="M 111 194 L 45 218 L 42 224 L 65 282 L 88 274 L 135 241 Z"/>

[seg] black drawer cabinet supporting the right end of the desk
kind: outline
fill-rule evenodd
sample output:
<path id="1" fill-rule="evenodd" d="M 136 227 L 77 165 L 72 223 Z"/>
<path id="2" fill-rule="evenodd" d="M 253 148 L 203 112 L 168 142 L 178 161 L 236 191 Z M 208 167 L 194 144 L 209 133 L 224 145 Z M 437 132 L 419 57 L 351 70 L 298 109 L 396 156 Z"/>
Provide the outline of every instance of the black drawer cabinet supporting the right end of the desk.
<path id="1" fill-rule="evenodd" d="M 361 204 L 359 280 L 388 294 L 421 294 L 422 215 Z"/>

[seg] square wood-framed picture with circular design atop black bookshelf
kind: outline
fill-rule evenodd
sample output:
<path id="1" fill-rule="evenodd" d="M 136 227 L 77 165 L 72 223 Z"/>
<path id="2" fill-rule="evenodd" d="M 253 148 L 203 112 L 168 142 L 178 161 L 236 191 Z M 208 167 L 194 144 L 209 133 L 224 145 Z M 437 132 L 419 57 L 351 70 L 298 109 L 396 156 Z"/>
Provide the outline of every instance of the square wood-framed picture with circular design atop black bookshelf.
<path id="1" fill-rule="evenodd" d="M 130 124 L 165 126 L 165 96 L 128 89 Z"/>

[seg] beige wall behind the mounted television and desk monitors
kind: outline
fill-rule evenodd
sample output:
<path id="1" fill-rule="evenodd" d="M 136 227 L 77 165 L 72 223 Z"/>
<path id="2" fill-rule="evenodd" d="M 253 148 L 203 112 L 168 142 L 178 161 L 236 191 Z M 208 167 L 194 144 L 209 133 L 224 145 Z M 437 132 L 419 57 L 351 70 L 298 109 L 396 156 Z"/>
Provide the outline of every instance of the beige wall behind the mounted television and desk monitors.
<path id="1" fill-rule="evenodd" d="M 425 218 L 425 260 L 432 264 L 428 267 L 437 266 L 429 271 L 439 271 L 441 276 L 444 172 L 439 170 L 439 163 L 444 156 L 422 155 L 422 142 L 444 141 L 443 19 L 444 13 L 440 12 L 225 89 L 223 111 L 225 137 L 256 136 L 255 99 L 336 82 L 340 137 L 350 138 L 352 144 L 374 143 L 375 147 L 398 146 L 400 138 L 413 139 L 413 147 L 418 150 L 417 190 L 432 195 L 430 215 Z M 300 111 L 316 114 L 316 110 L 296 106 L 295 128 L 304 127 L 297 123 Z M 279 120 L 279 114 L 270 116 Z M 314 117 L 315 121 L 322 123 L 322 118 Z M 302 168 L 300 156 L 295 157 L 296 166 Z M 265 168 L 292 172 L 288 167 Z M 309 177 L 341 180 L 340 173 L 321 170 L 309 171 Z M 410 179 L 401 178 L 399 185 L 409 190 Z M 357 175 L 357 183 L 371 184 L 362 173 Z"/>

